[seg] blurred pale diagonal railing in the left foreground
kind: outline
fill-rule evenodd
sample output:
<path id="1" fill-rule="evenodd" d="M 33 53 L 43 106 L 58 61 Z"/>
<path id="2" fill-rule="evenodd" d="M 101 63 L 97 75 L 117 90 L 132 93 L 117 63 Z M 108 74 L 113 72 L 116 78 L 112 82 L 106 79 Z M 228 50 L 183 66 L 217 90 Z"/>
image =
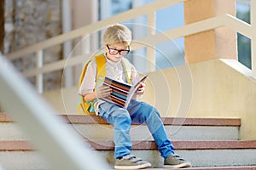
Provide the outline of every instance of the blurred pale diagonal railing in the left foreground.
<path id="1" fill-rule="evenodd" d="M 17 122 L 53 169 L 110 169 L 106 162 L 85 147 L 84 139 L 57 116 L 2 54 L 0 91 L 4 111 Z"/>

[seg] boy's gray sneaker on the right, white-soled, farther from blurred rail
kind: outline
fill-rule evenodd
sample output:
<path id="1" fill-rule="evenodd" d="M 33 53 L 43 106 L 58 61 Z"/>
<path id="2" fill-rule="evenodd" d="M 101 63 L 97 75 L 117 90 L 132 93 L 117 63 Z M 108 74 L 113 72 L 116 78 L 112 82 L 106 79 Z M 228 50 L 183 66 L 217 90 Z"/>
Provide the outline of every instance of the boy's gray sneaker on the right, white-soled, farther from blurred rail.
<path id="1" fill-rule="evenodd" d="M 182 168 L 182 167 L 192 167 L 189 161 L 185 161 L 183 158 L 177 154 L 168 156 L 164 161 L 164 167 L 169 168 Z"/>

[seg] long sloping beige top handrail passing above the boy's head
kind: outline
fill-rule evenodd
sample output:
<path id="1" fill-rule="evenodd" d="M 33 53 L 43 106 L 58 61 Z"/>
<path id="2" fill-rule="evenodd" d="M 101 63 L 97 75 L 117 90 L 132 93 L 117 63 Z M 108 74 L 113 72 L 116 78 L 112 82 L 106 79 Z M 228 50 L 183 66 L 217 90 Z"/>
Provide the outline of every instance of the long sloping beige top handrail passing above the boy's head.
<path id="1" fill-rule="evenodd" d="M 7 57 L 10 60 L 19 59 L 20 57 L 22 57 L 26 54 L 36 53 L 38 50 L 49 48 L 49 47 L 55 46 L 57 44 L 61 44 L 63 42 L 73 40 L 76 37 L 86 37 L 91 32 L 94 32 L 96 30 L 101 30 L 104 27 L 113 24 L 114 22 L 123 22 L 125 20 L 131 20 L 131 19 L 137 18 L 139 16 L 143 16 L 144 14 L 154 13 L 157 10 L 160 10 L 163 8 L 168 8 L 172 5 L 175 5 L 177 3 L 183 3 L 185 1 L 187 1 L 187 0 L 168 0 L 168 1 L 158 0 L 158 1 L 154 1 L 153 3 L 148 3 L 141 7 L 132 8 L 131 10 L 128 10 L 121 14 L 117 14 L 117 15 L 115 15 L 111 18 L 108 18 L 106 20 L 99 20 L 96 23 L 93 23 L 92 25 L 83 26 L 81 28 L 75 29 L 73 31 L 69 31 L 69 32 L 61 34 L 59 36 L 49 38 L 48 40 L 45 40 L 44 42 L 38 42 L 38 43 L 33 44 L 27 48 L 21 48 L 16 52 L 7 54 Z"/>

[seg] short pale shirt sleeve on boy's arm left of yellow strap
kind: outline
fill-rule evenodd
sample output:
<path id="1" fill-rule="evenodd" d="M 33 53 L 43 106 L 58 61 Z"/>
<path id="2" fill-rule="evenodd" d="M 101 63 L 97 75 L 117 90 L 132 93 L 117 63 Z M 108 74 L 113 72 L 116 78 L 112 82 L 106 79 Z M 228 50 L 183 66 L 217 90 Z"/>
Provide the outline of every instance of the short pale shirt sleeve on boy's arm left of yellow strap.
<path id="1" fill-rule="evenodd" d="M 93 92 L 96 85 L 96 61 L 91 61 L 84 75 L 78 94 L 84 96 Z"/>

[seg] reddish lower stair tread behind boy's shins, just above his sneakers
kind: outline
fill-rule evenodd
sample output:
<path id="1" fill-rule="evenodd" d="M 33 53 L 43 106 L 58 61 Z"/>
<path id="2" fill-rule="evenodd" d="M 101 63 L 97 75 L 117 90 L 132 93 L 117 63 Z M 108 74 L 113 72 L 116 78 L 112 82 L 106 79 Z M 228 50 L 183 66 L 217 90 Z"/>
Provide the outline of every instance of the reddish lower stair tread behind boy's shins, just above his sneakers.
<path id="1" fill-rule="evenodd" d="M 132 150 L 157 150 L 154 141 L 132 141 Z M 90 141 L 95 150 L 113 150 L 113 141 Z M 176 150 L 240 150 L 256 149 L 256 140 L 172 141 Z M 0 151 L 33 150 L 26 140 L 0 141 Z"/>

